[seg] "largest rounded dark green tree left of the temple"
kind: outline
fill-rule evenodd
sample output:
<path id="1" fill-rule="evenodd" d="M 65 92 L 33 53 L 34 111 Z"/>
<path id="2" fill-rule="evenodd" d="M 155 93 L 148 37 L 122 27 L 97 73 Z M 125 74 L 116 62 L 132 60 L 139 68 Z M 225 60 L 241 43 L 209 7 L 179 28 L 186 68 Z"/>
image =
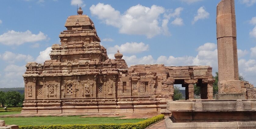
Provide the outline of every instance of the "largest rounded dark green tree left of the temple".
<path id="1" fill-rule="evenodd" d="M 5 93 L 4 99 L 6 106 L 17 106 L 20 103 L 21 95 L 17 91 L 8 91 Z"/>

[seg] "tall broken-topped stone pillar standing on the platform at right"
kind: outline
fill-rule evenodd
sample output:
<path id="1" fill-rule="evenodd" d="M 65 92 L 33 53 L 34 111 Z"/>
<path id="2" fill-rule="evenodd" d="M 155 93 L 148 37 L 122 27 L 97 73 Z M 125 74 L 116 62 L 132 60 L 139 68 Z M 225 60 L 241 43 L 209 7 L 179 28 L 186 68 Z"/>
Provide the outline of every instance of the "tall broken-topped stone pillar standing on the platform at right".
<path id="1" fill-rule="evenodd" d="M 236 15 L 234 0 L 222 0 L 217 5 L 217 40 L 219 66 L 219 95 L 225 99 L 243 99 L 238 74 L 236 46 Z M 218 96 L 218 95 L 217 95 Z M 218 97 L 216 98 L 218 99 Z M 221 99 L 220 98 L 220 99 Z"/>

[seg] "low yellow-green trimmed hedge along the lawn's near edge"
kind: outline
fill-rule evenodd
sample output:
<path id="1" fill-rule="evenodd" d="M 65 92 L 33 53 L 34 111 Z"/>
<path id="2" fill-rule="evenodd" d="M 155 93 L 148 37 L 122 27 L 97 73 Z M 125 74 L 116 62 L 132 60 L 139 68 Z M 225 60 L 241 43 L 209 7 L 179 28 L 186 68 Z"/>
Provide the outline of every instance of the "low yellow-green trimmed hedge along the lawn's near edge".
<path id="1" fill-rule="evenodd" d="M 164 117 L 164 115 L 158 115 L 137 123 L 19 126 L 19 129 L 144 129 Z"/>

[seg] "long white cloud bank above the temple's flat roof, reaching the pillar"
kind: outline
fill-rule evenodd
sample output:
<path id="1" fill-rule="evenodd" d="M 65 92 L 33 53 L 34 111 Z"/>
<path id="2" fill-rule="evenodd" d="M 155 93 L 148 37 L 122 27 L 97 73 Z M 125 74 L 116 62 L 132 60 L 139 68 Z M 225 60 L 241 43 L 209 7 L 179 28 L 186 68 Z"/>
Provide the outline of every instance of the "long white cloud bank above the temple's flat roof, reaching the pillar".
<path id="1" fill-rule="evenodd" d="M 218 50 L 214 43 L 205 43 L 197 48 L 197 56 L 159 56 L 154 59 L 151 55 L 137 58 L 137 56 L 123 56 L 128 66 L 134 64 L 165 64 L 165 66 L 209 65 L 213 71 L 218 70 Z"/>

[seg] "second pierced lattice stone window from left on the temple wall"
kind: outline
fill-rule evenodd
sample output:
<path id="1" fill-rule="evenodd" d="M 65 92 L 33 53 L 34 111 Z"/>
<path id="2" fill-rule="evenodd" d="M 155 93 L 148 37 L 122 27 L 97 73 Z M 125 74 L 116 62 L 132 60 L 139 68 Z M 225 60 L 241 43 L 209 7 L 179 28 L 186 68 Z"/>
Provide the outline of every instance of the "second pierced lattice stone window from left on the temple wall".
<path id="1" fill-rule="evenodd" d="M 76 86 L 77 86 L 77 80 L 64 80 L 64 83 L 61 87 L 63 96 L 76 95 L 76 91 L 78 90 Z"/>

